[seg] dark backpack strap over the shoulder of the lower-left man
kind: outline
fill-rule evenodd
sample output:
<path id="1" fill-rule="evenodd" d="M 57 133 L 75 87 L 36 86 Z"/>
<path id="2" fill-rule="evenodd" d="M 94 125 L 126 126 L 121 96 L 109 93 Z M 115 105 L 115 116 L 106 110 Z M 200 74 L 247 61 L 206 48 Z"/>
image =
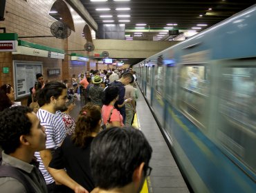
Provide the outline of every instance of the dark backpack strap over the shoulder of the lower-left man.
<path id="1" fill-rule="evenodd" d="M 36 192 L 35 188 L 26 179 L 25 174 L 17 167 L 11 165 L 2 165 L 2 154 L 0 153 L 0 178 L 11 177 L 17 179 L 22 185 L 24 185 L 26 192 Z"/>

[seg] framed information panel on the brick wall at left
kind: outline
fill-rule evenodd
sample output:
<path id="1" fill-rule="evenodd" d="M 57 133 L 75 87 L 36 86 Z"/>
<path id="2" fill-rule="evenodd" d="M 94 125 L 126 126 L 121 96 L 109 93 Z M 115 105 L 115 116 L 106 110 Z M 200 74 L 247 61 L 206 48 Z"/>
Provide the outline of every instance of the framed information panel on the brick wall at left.
<path id="1" fill-rule="evenodd" d="M 42 73 L 42 68 L 42 62 L 13 61 L 15 99 L 20 99 L 30 94 L 29 89 L 32 88 L 37 81 L 35 74 Z"/>

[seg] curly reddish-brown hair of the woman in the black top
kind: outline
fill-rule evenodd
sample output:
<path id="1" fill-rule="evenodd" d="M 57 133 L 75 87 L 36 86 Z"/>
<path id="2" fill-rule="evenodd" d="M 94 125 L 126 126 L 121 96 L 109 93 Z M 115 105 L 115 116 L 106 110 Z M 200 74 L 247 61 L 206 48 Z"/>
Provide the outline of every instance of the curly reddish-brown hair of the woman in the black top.
<path id="1" fill-rule="evenodd" d="M 75 122 L 75 133 L 71 137 L 73 143 L 83 148 L 86 145 L 86 138 L 91 136 L 92 132 L 99 132 L 98 123 L 100 119 L 100 106 L 87 103 L 80 110 Z"/>

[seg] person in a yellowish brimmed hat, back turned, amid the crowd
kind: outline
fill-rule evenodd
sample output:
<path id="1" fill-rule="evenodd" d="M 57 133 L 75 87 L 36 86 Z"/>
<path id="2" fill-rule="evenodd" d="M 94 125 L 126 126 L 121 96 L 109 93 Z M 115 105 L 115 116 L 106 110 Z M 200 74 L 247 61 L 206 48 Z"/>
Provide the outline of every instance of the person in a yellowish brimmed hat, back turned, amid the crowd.
<path id="1" fill-rule="evenodd" d="M 102 78 L 99 75 L 96 75 L 93 79 L 93 85 L 89 89 L 89 97 L 91 99 L 91 103 L 99 105 L 100 108 L 102 108 L 103 88 L 100 86 L 100 83 L 102 83 Z"/>

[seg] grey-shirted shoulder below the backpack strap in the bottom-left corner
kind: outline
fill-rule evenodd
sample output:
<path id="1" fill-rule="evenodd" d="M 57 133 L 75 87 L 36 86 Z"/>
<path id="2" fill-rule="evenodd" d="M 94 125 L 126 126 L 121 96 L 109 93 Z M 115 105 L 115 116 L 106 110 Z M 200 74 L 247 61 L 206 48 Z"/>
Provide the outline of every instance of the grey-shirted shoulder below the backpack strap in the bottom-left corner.
<path id="1" fill-rule="evenodd" d="M 0 178 L 0 190 L 1 193 L 21 193 L 26 192 L 26 188 L 17 179 L 12 177 L 1 177 Z"/>

